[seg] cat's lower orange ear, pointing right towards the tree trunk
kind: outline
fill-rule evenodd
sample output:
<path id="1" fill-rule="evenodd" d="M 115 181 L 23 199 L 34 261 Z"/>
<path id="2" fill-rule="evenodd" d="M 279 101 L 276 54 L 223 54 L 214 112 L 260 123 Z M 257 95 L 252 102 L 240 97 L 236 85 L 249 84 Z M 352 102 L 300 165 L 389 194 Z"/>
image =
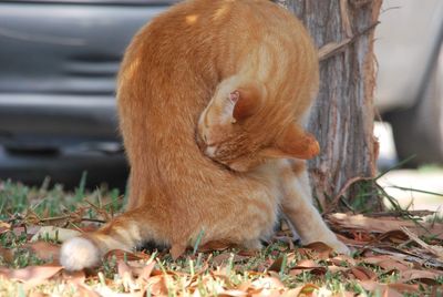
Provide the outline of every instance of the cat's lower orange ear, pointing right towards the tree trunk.
<path id="1" fill-rule="evenodd" d="M 316 137 L 297 124 L 290 125 L 275 143 L 262 151 L 265 157 L 312 158 L 320 153 Z"/>

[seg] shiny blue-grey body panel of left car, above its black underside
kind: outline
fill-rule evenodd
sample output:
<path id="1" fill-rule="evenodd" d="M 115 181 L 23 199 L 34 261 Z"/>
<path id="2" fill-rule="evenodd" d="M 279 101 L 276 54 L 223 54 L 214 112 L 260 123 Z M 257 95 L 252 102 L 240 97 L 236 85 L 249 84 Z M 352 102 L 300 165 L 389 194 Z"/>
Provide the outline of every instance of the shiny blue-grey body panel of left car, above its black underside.
<path id="1" fill-rule="evenodd" d="M 0 143 L 117 141 L 116 72 L 161 2 L 0 2 Z"/>

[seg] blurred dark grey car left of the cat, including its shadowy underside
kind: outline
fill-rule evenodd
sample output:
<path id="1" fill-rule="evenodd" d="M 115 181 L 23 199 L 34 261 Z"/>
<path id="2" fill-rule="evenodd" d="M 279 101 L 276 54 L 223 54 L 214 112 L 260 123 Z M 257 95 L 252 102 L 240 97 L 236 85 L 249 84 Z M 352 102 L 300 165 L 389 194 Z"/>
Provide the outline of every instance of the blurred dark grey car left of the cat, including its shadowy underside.
<path id="1" fill-rule="evenodd" d="M 0 178 L 123 186 L 115 75 L 134 33 L 174 1 L 0 2 Z"/>

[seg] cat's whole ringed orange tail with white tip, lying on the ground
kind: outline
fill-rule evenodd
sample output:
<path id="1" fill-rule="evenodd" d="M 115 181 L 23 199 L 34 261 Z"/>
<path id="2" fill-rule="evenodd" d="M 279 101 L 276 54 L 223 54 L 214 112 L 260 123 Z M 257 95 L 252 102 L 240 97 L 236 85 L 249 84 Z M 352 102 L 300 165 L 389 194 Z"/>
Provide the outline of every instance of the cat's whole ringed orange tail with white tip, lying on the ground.
<path id="1" fill-rule="evenodd" d="M 131 252 L 144 240 L 156 238 L 156 231 L 146 209 L 128 211 L 114 218 L 99 231 L 85 233 L 63 243 L 60 263 L 66 270 L 80 270 L 100 264 L 112 249 Z"/>

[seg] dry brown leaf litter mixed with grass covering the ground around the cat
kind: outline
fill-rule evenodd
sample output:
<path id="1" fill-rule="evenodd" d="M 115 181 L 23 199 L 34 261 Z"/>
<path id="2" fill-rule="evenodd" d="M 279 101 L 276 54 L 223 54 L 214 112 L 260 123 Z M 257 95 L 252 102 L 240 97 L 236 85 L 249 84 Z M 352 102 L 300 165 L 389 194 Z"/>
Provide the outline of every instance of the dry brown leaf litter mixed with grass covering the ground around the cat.
<path id="1" fill-rule="evenodd" d="M 181 255 L 117 249 L 97 268 L 65 272 L 58 260 L 61 242 L 111 219 L 116 209 L 109 205 L 101 197 L 53 217 L 29 209 L 1 214 L 0 296 L 443 295 L 443 224 L 392 214 L 327 215 L 352 256 L 322 243 L 299 246 L 281 224 L 259 252 L 223 242 Z"/>

